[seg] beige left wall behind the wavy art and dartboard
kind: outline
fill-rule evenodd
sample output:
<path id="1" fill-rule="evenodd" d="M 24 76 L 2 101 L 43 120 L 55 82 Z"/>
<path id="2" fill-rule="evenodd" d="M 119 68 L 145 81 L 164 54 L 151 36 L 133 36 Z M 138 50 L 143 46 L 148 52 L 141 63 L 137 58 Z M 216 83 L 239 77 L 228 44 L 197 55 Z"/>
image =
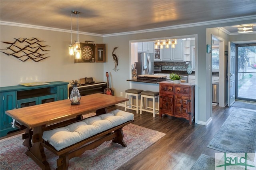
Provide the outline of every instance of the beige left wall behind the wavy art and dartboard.
<path id="1" fill-rule="evenodd" d="M 20 61 L 11 55 L 0 53 L 0 87 L 18 85 L 35 81 L 68 81 L 84 77 L 93 77 L 94 80 L 104 81 L 103 63 L 74 63 L 74 57 L 68 56 L 70 33 L 22 28 L 1 25 L 1 49 L 9 46 L 2 42 L 14 42 L 14 38 L 38 38 L 44 40 L 44 45 L 50 57 L 34 62 L 30 59 Z M 76 35 L 73 35 L 73 40 Z M 103 43 L 100 36 L 79 36 L 80 42 L 92 40 Z"/>

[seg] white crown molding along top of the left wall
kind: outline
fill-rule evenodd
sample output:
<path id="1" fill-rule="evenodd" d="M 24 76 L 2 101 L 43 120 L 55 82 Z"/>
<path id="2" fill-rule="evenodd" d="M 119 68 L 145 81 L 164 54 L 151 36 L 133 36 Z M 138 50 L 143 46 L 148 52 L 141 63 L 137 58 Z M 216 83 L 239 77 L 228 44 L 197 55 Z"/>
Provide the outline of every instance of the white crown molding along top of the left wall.
<path id="1" fill-rule="evenodd" d="M 22 24 L 22 23 L 16 23 L 16 22 L 0 21 L 0 25 L 16 26 L 16 27 L 39 29 L 39 30 L 48 30 L 48 31 L 57 31 L 57 32 L 70 33 L 70 30 L 64 30 L 64 29 L 60 29 L 60 28 L 44 27 L 44 26 L 36 26 L 36 25 L 30 25 L 30 24 Z M 73 31 L 73 33 L 76 34 L 75 31 Z M 88 36 L 103 37 L 102 34 L 94 34 L 94 33 L 90 33 L 90 32 L 78 32 L 78 34 L 80 34 L 80 35 L 88 35 Z"/>

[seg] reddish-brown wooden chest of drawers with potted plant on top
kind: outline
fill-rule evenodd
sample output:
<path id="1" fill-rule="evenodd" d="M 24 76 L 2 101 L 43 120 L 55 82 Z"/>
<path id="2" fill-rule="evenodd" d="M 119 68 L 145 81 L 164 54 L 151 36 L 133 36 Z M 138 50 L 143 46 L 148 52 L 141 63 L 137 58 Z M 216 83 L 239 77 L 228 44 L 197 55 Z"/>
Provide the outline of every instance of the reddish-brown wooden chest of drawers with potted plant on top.
<path id="1" fill-rule="evenodd" d="M 163 81 L 159 83 L 159 116 L 167 114 L 192 120 L 195 116 L 195 85 L 194 83 L 172 83 Z"/>

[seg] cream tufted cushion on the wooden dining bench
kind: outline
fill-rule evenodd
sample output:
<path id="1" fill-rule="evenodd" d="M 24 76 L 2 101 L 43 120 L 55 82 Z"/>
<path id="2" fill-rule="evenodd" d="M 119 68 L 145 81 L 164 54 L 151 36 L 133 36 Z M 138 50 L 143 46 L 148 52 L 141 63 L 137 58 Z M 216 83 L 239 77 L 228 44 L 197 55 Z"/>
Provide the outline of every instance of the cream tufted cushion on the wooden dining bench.
<path id="1" fill-rule="evenodd" d="M 61 150 L 90 136 L 133 120 L 132 113 L 114 110 L 110 113 L 89 117 L 66 127 L 44 131 L 43 139 L 56 150 Z"/>

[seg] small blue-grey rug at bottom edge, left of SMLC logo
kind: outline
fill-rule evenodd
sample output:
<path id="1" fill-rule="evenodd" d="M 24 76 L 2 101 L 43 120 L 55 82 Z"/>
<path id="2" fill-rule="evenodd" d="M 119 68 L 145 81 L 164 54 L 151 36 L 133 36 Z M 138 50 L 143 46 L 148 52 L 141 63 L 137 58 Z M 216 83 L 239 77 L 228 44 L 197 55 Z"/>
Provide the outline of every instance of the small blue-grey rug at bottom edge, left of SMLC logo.
<path id="1" fill-rule="evenodd" d="M 201 154 L 190 170 L 214 170 L 215 160 L 205 154 Z"/>

